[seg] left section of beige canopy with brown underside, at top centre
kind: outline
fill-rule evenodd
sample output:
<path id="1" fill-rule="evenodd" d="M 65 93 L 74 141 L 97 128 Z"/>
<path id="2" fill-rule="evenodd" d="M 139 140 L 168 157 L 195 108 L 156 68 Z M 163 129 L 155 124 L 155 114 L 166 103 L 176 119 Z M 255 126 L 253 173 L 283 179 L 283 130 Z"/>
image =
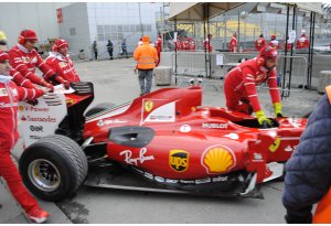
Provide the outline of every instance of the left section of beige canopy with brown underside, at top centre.
<path id="1" fill-rule="evenodd" d="M 169 20 L 203 21 L 242 4 L 244 2 L 171 2 Z"/>

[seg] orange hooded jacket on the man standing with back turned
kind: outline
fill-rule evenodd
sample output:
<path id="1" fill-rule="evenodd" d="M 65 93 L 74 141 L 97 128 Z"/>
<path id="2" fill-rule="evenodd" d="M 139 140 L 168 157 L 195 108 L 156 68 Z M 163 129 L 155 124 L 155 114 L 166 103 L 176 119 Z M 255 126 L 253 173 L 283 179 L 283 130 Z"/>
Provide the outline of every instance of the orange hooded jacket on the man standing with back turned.
<path id="1" fill-rule="evenodd" d="M 138 61 L 138 69 L 153 69 L 158 62 L 157 49 L 149 45 L 149 42 L 143 42 L 141 46 L 137 47 L 134 57 Z"/>

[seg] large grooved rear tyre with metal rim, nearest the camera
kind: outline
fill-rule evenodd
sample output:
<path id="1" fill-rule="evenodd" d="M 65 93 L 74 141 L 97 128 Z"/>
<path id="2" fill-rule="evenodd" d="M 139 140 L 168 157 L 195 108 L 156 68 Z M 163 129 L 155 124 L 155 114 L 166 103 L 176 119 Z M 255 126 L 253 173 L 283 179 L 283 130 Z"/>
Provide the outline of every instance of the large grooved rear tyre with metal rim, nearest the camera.
<path id="1" fill-rule="evenodd" d="M 72 139 L 53 134 L 31 144 L 19 162 L 29 191 L 45 201 L 73 195 L 87 175 L 87 160 Z"/>

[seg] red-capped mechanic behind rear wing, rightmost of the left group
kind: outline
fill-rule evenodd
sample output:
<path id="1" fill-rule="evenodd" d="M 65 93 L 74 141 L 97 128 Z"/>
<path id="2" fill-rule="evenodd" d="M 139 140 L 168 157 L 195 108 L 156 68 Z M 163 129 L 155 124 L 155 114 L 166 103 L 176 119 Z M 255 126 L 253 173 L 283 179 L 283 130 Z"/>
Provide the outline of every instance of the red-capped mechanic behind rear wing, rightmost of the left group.
<path id="1" fill-rule="evenodd" d="M 46 64 L 64 80 L 81 82 L 74 64 L 67 54 L 68 44 L 65 40 L 57 39 L 53 45 Z"/>

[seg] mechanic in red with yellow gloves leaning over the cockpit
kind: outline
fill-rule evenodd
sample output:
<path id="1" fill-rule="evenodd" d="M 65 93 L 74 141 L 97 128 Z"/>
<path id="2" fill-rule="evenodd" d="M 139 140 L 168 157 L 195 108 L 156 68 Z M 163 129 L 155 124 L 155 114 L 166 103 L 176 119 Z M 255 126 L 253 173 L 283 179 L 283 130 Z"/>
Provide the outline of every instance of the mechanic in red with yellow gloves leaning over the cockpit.
<path id="1" fill-rule="evenodd" d="M 267 80 L 275 114 L 277 117 L 282 117 L 275 68 L 277 58 L 278 52 L 271 46 L 265 46 L 257 57 L 245 61 L 229 71 L 224 83 L 228 110 L 248 115 L 254 111 L 259 125 L 271 126 L 270 120 L 260 108 L 256 92 L 256 85 Z"/>

